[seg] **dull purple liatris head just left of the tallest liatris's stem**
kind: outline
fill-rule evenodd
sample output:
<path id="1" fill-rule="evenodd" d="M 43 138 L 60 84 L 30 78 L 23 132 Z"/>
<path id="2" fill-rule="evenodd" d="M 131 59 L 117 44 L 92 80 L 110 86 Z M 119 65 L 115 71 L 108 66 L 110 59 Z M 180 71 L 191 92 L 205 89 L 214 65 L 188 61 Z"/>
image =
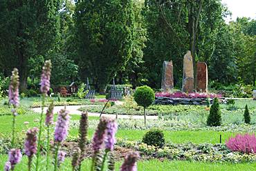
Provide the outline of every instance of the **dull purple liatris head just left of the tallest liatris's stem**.
<path id="1" fill-rule="evenodd" d="M 32 128 L 28 130 L 25 141 L 25 154 L 28 157 L 32 157 L 37 152 L 37 132 L 38 128 Z"/>

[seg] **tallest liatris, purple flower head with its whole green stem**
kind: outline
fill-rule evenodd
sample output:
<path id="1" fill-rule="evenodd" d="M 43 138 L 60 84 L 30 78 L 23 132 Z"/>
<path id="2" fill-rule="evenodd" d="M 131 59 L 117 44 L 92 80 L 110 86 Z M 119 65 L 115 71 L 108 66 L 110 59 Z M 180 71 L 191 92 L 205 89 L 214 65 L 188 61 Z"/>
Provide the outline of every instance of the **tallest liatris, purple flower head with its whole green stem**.
<path id="1" fill-rule="evenodd" d="M 37 171 L 39 168 L 39 158 L 40 158 L 40 146 L 41 146 L 41 135 L 43 129 L 43 114 L 44 114 L 44 102 L 45 98 L 50 90 L 50 79 L 51 79 L 51 60 L 45 61 L 44 67 L 42 69 L 41 74 L 41 83 L 40 83 L 40 90 L 42 92 L 42 112 L 40 114 L 39 120 L 39 134 L 38 134 L 38 143 L 37 143 L 37 162 L 35 164 L 35 170 Z"/>

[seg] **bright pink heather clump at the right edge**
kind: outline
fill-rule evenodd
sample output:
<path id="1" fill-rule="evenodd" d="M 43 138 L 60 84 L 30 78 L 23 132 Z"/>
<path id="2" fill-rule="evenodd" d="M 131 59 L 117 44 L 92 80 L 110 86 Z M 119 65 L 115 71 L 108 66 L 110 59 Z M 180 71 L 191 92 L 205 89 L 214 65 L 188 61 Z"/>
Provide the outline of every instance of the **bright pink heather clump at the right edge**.
<path id="1" fill-rule="evenodd" d="M 237 134 L 228 139 L 226 145 L 233 152 L 256 153 L 255 134 Z"/>

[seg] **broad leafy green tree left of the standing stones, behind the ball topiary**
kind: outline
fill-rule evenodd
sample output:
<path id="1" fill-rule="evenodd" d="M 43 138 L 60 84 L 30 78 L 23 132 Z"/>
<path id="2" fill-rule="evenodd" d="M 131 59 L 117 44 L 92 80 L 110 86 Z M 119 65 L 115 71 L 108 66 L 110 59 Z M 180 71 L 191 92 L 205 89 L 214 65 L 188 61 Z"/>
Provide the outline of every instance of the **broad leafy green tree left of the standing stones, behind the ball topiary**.
<path id="1" fill-rule="evenodd" d="M 82 76 L 104 90 L 127 65 L 134 47 L 132 0 L 77 1 L 75 10 L 78 58 Z M 86 73 L 86 74 L 84 74 Z"/>

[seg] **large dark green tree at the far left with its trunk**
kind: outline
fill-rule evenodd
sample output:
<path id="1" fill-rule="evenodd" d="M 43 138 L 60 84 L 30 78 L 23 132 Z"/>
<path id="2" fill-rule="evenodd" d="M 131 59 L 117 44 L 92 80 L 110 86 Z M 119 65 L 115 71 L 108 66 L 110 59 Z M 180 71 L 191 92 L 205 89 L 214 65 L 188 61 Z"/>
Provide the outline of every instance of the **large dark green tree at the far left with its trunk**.
<path id="1" fill-rule="evenodd" d="M 19 69 L 21 90 L 27 86 L 30 59 L 45 58 L 53 49 L 61 5 L 61 1 L 50 0 L 2 0 L 0 3 L 1 69 L 6 74 L 11 68 Z"/>

